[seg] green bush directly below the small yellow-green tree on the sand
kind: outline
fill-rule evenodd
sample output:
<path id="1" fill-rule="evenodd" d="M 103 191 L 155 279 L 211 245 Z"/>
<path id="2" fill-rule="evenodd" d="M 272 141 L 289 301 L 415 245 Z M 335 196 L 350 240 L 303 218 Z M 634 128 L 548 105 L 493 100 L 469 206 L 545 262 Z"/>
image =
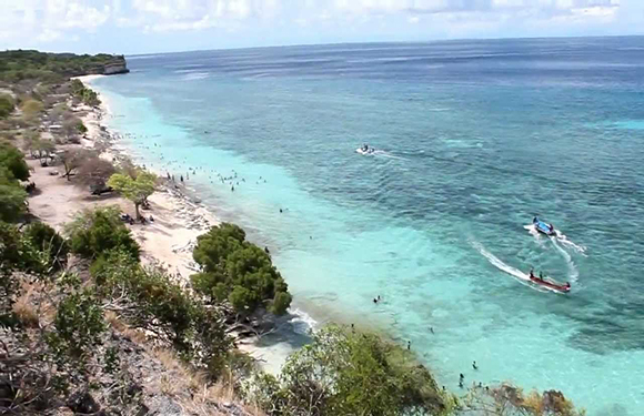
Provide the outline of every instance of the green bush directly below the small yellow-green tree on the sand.
<path id="1" fill-rule="evenodd" d="M 83 211 L 67 225 L 72 252 L 97 258 L 111 250 L 120 250 L 138 261 L 140 247 L 121 222 L 117 206 Z"/>

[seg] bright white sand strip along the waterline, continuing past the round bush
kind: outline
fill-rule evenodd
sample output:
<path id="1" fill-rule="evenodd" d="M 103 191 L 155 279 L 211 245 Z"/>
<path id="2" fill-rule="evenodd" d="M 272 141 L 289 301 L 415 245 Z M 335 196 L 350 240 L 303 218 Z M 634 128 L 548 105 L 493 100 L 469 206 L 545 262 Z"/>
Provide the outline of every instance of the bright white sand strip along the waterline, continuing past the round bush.
<path id="1" fill-rule="evenodd" d="M 77 79 L 92 88 L 91 82 L 103 77 L 108 75 L 84 75 Z M 81 118 L 88 128 L 87 140 L 83 140 L 81 145 L 92 149 L 99 144 L 102 148 L 100 156 L 117 164 L 124 160 L 137 162 L 128 153 L 127 148 L 120 145 L 121 134 L 104 123 L 105 116 L 112 114 L 109 100 L 97 89 L 94 91 L 101 104 L 99 109 L 90 109 Z M 198 272 L 192 258 L 197 237 L 222 221 L 213 210 L 200 201 L 194 194 L 195 191 L 184 184 L 168 181 L 164 172 L 150 166 L 145 169 L 162 180 L 162 184 L 149 197 L 151 210 L 142 212 L 144 215 L 152 213 L 154 222 L 129 227 L 137 242 L 141 244 L 143 263 L 164 267 L 178 282 L 185 285 L 190 275 Z M 109 197 L 109 201 L 117 203 L 123 212 L 132 215 L 131 202 L 114 196 Z M 301 323 L 304 323 L 306 331 L 301 328 Z M 306 334 L 315 325 L 316 321 L 311 315 L 295 306 L 291 307 L 288 315 L 275 319 L 275 331 L 268 334 L 269 339 L 274 338 L 273 341 L 266 343 L 262 335 L 239 338 L 235 344 L 240 351 L 255 358 L 262 369 L 278 374 L 289 354 L 309 339 Z"/>

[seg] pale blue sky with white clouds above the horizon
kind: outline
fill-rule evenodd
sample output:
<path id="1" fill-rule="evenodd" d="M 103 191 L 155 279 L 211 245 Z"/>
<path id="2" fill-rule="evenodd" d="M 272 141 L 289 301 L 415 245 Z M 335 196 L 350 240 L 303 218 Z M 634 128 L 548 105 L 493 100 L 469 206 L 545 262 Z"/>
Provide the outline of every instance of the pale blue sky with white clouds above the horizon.
<path id="1" fill-rule="evenodd" d="M 0 0 L 0 50 L 644 34 L 644 0 Z"/>

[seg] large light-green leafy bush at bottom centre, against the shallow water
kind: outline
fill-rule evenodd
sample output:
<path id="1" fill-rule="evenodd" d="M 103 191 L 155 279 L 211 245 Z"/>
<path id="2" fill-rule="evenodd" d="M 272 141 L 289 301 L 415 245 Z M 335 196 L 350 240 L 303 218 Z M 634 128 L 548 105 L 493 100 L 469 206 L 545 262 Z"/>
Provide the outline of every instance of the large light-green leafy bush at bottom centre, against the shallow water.
<path id="1" fill-rule="evenodd" d="M 430 373 L 373 334 L 330 326 L 293 353 L 279 379 L 262 375 L 246 397 L 269 415 L 437 415 L 445 409 Z"/>

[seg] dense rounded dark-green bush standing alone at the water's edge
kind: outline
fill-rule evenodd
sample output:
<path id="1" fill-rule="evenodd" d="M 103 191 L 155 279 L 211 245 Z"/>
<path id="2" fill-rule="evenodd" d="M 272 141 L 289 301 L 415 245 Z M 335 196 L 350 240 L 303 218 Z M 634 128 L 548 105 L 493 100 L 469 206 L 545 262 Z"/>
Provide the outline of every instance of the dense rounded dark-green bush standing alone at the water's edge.
<path id="1" fill-rule="evenodd" d="M 245 241 L 234 224 L 223 223 L 197 239 L 192 256 L 202 267 L 191 276 L 195 291 L 214 302 L 228 300 L 239 313 L 252 313 L 268 303 L 276 314 L 291 304 L 291 295 L 271 257 Z"/>

